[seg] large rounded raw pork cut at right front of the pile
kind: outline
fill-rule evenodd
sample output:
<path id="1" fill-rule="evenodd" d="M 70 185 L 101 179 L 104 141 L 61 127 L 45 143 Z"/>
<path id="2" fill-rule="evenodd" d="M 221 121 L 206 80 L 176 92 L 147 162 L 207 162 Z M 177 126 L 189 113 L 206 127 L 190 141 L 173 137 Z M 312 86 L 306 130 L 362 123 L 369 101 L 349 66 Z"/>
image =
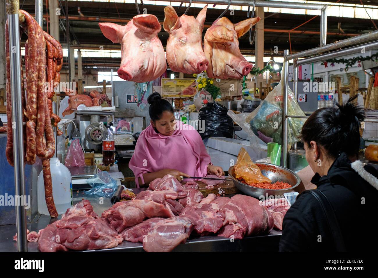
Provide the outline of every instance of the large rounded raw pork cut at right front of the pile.
<path id="1" fill-rule="evenodd" d="M 242 239 L 244 236 L 269 232 L 274 225 L 270 212 L 259 200 L 245 195 L 235 195 L 223 204 L 221 211 L 226 218 L 218 236 Z"/>

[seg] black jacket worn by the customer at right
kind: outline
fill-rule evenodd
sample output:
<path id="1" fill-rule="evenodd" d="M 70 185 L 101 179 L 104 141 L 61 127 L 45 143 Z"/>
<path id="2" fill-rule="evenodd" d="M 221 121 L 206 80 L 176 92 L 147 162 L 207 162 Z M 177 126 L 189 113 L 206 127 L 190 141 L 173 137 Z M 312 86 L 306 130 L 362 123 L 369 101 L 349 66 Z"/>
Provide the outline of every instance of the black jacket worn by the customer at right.
<path id="1" fill-rule="evenodd" d="M 316 173 L 311 180 L 332 204 L 347 251 L 376 250 L 375 223 L 378 208 L 378 172 L 370 165 L 353 168 L 345 153 L 333 162 L 328 175 Z M 369 178 L 368 183 L 365 179 Z M 365 179 L 363 179 L 363 177 Z M 373 180 L 373 182 L 372 182 Z M 302 193 L 283 219 L 280 252 L 335 251 L 323 210 L 309 193 Z"/>

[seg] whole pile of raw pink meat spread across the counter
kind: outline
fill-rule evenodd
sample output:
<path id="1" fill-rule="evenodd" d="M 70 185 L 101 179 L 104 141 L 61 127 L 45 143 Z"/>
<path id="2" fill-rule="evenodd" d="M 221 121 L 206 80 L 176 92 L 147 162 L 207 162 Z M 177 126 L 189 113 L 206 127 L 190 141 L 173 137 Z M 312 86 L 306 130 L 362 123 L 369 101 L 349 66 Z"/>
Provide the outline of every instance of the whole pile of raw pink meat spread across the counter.
<path id="1" fill-rule="evenodd" d="M 142 242 L 147 252 L 169 252 L 190 235 L 242 239 L 268 233 L 273 227 L 282 229 L 285 201 L 259 202 L 244 195 L 204 198 L 197 189 L 194 181 L 182 185 L 165 175 L 133 200 L 115 203 L 101 218 L 83 200 L 67 210 L 62 220 L 29 233 L 28 240 L 38 240 L 42 252 L 112 248 L 123 240 Z"/>

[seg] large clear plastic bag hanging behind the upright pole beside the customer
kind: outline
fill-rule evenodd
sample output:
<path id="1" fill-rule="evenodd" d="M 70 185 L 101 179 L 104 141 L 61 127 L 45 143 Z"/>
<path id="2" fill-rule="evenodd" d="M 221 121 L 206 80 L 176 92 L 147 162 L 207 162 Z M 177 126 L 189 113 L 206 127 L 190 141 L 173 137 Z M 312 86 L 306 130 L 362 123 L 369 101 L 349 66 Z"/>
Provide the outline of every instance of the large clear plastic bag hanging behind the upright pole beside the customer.
<path id="1" fill-rule="evenodd" d="M 281 76 L 284 75 L 282 70 Z M 294 93 L 288 92 L 288 115 L 305 116 L 305 113 L 299 107 Z M 253 133 L 265 143 L 276 142 L 282 145 L 282 110 L 283 110 L 283 85 L 282 79 L 274 87 L 266 98 L 262 101 L 245 121 L 249 123 Z M 288 144 L 294 144 L 299 141 L 297 138 L 306 119 L 288 118 Z"/>

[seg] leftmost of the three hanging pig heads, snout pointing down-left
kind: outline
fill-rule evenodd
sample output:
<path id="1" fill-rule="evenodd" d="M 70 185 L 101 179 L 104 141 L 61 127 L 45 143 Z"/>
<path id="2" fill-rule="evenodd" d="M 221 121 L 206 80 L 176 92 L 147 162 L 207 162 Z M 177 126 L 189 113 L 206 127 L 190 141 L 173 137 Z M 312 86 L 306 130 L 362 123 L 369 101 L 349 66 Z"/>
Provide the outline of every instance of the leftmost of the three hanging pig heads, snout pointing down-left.
<path id="1" fill-rule="evenodd" d="M 140 14 L 127 25 L 107 22 L 99 26 L 105 37 L 121 44 L 121 65 L 117 71 L 120 78 L 141 83 L 164 73 L 167 64 L 157 35 L 161 26 L 156 16 Z"/>

